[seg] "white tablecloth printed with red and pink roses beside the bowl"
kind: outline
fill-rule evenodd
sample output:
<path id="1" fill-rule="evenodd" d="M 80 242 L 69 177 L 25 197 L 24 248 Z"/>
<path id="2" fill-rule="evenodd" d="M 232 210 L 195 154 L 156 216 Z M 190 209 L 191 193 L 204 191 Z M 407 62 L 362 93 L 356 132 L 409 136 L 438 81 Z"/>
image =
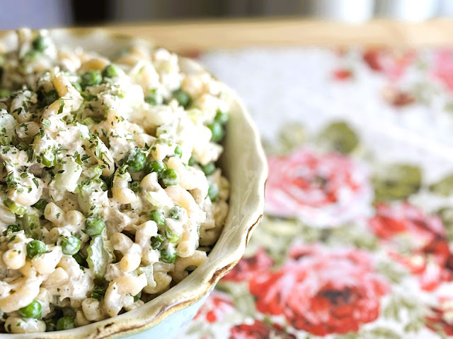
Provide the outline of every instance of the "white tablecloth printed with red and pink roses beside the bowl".
<path id="1" fill-rule="evenodd" d="M 263 135 L 266 215 L 183 338 L 453 335 L 453 51 L 199 56 Z"/>

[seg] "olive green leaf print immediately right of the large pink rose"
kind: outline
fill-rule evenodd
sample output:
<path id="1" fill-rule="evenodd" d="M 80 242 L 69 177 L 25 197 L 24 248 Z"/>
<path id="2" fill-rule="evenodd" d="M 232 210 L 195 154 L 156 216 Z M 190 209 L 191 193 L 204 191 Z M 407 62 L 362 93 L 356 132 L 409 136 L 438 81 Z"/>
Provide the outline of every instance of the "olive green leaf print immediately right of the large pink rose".
<path id="1" fill-rule="evenodd" d="M 415 165 L 394 163 L 378 169 L 372 177 L 375 201 L 406 199 L 418 192 L 422 172 Z"/>

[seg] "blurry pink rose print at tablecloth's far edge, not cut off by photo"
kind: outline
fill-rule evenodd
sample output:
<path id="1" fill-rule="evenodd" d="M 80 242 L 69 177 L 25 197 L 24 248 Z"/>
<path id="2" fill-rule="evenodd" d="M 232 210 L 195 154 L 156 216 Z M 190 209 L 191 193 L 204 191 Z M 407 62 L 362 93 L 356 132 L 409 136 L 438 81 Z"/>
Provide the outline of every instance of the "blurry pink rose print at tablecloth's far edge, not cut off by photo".
<path id="1" fill-rule="evenodd" d="M 363 54 L 363 61 L 373 71 L 384 73 L 391 81 L 396 81 L 404 75 L 415 57 L 414 51 L 398 52 L 386 49 L 368 49 Z"/>

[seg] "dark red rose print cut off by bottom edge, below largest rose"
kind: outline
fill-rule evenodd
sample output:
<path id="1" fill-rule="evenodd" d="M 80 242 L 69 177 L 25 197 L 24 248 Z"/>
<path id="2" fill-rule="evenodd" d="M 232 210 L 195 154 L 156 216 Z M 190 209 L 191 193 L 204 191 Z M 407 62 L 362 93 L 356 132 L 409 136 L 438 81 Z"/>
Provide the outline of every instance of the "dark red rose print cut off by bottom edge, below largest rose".
<path id="1" fill-rule="evenodd" d="M 263 321 L 255 320 L 252 325 L 241 323 L 230 329 L 229 339 L 296 339 L 295 335 L 285 332 L 277 324 L 270 325 Z"/>

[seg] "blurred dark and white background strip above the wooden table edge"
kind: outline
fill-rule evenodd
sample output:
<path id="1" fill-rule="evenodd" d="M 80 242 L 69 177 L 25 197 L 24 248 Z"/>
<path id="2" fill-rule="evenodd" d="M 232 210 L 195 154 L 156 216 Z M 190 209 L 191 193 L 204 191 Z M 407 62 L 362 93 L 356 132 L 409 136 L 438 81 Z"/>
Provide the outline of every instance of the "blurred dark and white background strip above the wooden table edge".
<path id="1" fill-rule="evenodd" d="M 453 16 L 452 0 L 0 0 L 0 29 L 209 18 L 300 16 L 360 23 Z"/>

